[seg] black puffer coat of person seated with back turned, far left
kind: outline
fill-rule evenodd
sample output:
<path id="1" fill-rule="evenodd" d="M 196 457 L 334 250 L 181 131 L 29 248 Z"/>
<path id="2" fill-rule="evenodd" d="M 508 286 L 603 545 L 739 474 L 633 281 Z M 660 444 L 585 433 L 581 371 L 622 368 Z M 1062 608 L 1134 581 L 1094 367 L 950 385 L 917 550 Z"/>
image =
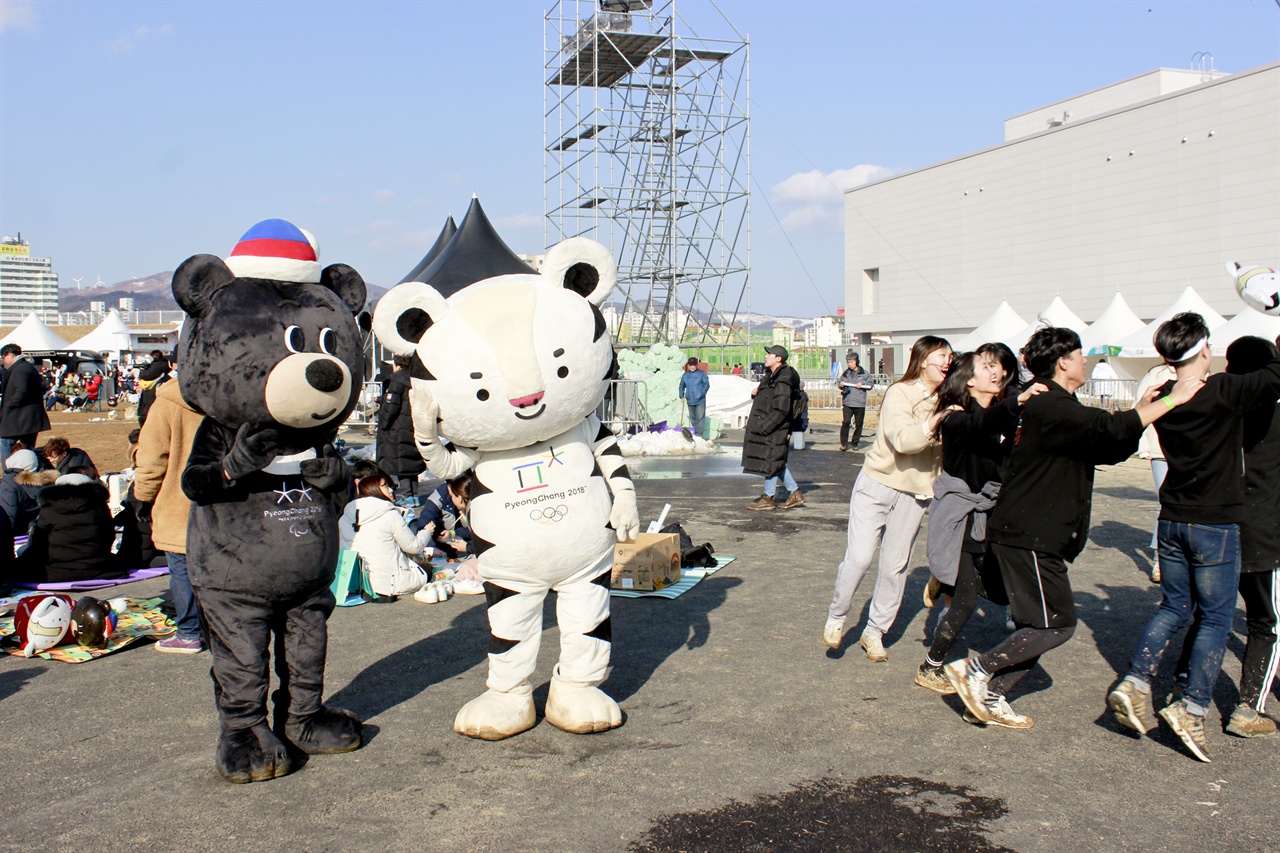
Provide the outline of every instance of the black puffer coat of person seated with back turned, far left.
<path id="1" fill-rule="evenodd" d="M 67 583 L 125 574 L 111 553 L 115 524 L 106 487 L 96 475 L 92 467 L 77 469 L 40 493 L 40 515 L 18 557 L 14 580 Z"/>

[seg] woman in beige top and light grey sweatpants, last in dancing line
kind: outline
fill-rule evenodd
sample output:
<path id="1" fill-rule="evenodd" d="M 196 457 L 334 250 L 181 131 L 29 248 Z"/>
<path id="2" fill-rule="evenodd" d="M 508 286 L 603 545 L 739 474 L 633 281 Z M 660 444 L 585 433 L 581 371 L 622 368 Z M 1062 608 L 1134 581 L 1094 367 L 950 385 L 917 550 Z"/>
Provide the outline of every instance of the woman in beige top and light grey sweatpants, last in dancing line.
<path id="1" fill-rule="evenodd" d="M 927 334 L 911 347 L 906 373 L 884 392 L 876 443 L 849 498 L 849 544 L 822 631 L 822 642 L 831 648 L 840 648 L 854 593 L 879 546 L 876 589 L 860 642 L 869 660 L 888 660 L 882 638 L 902 603 L 906 562 L 942 467 L 937 426 L 943 412 L 933 409 L 950 366 L 951 345 Z"/>

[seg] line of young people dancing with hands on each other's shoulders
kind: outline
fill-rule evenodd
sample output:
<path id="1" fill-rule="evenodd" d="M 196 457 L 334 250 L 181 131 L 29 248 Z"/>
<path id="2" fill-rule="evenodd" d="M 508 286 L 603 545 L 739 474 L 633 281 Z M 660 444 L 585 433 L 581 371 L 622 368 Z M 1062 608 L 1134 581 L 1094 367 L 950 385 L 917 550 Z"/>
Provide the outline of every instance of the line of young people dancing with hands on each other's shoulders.
<path id="1" fill-rule="evenodd" d="M 1085 357 L 1070 329 L 1039 329 L 1020 359 L 1004 345 L 957 356 L 942 338 L 919 338 L 906 373 L 884 394 L 876 442 L 852 489 L 823 643 L 841 646 L 854 592 L 878 548 L 859 643 L 870 661 L 888 658 L 883 637 L 928 511 L 925 603 L 945 598 L 947 608 L 915 683 L 957 694 L 973 725 L 1030 729 L 1030 716 L 1009 697 L 1042 654 L 1075 631 L 1069 566 L 1088 537 L 1094 469 L 1142 450 L 1160 497 L 1152 580 L 1162 601 L 1107 704 L 1128 729 L 1156 727 L 1161 658 L 1189 624 L 1158 717 L 1196 758 L 1210 761 L 1204 719 L 1239 594 L 1248 642 L 1225 729 L 1247 738 L 1275 733 L 1263 711 L 1280 665 L 1277 348 L 1242 338 L 1226 352 L 1226 371 L 1211 373 L 1208 327 L 1197 314 L 1170 319 L 1155 343 L 1165 368 L 1152 371 L 1133 409 L 1110 411 L 1075 397 L 1085 384 Z M 858 387 L 856 368 L 851 360 L 842 388 Z M 774 382 L 765 377 L 759 391 Z M 847 409 L 842 450 L 856 414 Z M 948 661 L 979 598 L 1010 607 L 1011 633 L 982 654 Z"/>

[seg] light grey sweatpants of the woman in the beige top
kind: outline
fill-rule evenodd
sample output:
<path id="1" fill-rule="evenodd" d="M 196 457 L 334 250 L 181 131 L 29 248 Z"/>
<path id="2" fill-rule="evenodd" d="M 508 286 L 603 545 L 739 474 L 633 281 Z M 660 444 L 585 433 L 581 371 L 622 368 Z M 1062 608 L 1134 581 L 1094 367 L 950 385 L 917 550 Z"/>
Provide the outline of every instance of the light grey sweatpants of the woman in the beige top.
<path id="1" fill-rule="evenodd" d="M 854 593 L 870 569 L 879 546 L 879 569 L 872 592 L 867 631 L 883 637 L 893 625 L 906 588 L 906 561 L 911 557 L 915 535 L 920 532 L 928 500 L 899 492 L 867 475 L 858 474 L 849 497 L 849 544 L 836 571 L 836 594 L 828 615 L 844 620 L 854 603 Z"/>

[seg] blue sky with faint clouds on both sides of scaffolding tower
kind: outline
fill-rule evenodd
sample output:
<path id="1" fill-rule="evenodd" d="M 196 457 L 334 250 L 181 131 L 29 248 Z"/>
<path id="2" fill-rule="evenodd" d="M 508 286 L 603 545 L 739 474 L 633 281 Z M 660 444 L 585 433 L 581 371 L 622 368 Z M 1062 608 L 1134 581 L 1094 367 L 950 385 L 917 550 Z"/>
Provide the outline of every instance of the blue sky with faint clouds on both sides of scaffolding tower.
<path id="1" fill-rule="evenodd" d="M 515 251 L 541 251 L 549 8 L 4 0 L 0 231 L 87 286 L 225 255 L 279 216 L 388 287 L 476 193 Z M 678 10 L 750 38 L 751 306 L 799 316 L 844 301 L 838 188 L 1197 51 L 1225 72 L 1280 59 L 1276 0 Z"/>

